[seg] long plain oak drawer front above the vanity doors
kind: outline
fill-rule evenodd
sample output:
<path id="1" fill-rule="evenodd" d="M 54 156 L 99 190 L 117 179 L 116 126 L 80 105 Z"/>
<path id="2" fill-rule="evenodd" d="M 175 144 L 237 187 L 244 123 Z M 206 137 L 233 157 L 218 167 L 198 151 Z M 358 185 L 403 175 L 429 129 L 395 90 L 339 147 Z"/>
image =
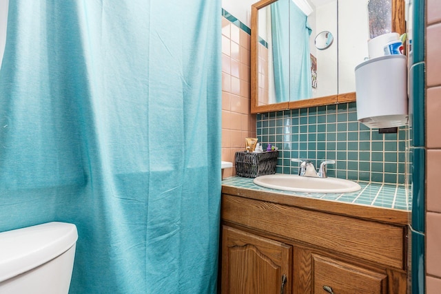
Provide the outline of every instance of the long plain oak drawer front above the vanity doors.
<path id="1" fill-rule="evenodd" d="M 223 194 L 224 221 L 405 269 L 406 227 Z"/>

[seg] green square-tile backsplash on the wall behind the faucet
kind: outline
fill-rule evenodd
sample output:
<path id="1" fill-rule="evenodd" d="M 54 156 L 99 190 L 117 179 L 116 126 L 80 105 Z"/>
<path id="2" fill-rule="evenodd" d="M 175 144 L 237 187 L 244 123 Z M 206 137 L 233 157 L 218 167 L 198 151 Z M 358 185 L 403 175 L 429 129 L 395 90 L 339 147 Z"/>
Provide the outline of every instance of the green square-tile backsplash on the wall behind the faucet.
<path id="1" fill-rule="evenodd" d="M 336 160 L 328 176 L 369 182 L 404 184 L 409 174 L 407 127 L 397 134 L 379 134 L 358 123 L 356 103 L 327 105 L 257 116 L 258 142 L 279 150 L 277 173 L 297 174 L 291 158 Z"/>

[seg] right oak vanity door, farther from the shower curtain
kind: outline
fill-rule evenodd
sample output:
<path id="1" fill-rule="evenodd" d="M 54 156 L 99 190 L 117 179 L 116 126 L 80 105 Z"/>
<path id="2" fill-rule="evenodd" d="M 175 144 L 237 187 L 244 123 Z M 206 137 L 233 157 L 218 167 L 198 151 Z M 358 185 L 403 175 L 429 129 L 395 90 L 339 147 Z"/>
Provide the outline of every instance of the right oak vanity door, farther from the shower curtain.
<path id="1" fill-rule="evenodd" d="M 387 275 L 339 260 L 312 255 L 314 293 L 387 293 Z"/>

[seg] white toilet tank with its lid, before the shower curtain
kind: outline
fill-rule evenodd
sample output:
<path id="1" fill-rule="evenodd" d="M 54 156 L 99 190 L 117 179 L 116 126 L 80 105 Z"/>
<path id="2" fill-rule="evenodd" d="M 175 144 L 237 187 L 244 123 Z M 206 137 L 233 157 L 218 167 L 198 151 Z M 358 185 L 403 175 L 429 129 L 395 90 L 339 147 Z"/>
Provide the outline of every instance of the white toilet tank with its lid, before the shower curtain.
<path id="1" fill-rule="evenodd" d="M 77 239 L 65 222 L 0 233 L 0 294 L 68 293 Z"/>

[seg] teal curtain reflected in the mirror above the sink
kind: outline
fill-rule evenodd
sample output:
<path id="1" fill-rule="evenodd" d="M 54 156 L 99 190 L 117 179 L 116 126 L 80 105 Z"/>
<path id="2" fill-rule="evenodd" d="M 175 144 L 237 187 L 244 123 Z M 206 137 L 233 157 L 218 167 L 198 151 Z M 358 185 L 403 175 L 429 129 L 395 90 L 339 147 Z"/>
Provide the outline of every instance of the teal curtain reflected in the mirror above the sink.
<path id="1" fill-rule="evenodd" d="M 278 0 L 271 5 L 271 28 L 276 101 L 310 98 L 311 28 L 306 14 L 291 0 Z"/>

